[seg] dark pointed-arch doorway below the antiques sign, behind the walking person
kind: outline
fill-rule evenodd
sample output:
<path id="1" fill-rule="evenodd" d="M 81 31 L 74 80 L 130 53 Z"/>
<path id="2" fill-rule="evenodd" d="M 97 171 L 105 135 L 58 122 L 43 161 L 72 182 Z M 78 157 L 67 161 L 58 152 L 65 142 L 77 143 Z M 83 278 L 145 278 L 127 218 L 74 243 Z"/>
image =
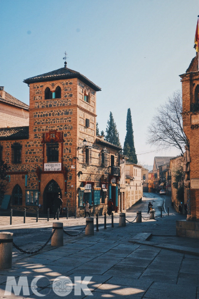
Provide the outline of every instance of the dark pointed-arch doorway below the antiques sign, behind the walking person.
<path id="1" fill-rule="evenodd" d="M 58 195 L 60 195 L 62 198 L 62 191 L 58 183 L 54 179 L 52 179 L 46 185 L 43 193 L 43 213 L 47 214 L 49 208 L 50 214 L 53 214 L 54 199 L 57 198 Z"/>

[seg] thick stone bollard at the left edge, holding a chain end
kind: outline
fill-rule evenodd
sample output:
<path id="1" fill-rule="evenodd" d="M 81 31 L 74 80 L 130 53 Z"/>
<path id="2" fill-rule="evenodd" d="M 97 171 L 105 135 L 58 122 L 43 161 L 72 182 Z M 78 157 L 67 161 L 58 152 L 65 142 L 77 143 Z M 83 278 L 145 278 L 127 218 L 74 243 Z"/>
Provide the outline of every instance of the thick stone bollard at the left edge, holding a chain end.
<path id="1" fill-rule="evenodd" d="M 0 270 L 12 268 L 13 233 L 0 233 Z"/>

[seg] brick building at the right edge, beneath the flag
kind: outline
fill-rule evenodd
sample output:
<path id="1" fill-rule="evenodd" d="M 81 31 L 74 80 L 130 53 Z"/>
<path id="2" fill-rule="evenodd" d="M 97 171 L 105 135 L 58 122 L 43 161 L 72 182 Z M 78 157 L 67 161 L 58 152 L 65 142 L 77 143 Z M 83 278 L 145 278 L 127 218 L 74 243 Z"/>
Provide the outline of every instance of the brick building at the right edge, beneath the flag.
<path id="1" fill-rule="evenodd" d="M 185 175 L 188 220 L 199 221 L 199 53 L 185 74 L 180 75 L 183 92 L 183 129 L 189 141 L 190 169 Z M 198 234 L 199 235 L 199 234 Z"/>

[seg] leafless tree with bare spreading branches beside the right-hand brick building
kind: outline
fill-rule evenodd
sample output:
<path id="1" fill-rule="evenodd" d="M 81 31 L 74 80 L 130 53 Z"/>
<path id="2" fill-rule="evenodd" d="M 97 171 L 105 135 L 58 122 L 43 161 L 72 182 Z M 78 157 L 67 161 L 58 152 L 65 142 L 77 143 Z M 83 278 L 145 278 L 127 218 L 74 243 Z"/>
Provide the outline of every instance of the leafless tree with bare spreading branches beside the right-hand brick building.
<path id="1" fill-rule="evenodd" d="M 188 145 L 188 140 L 183 131 L 182 111 L 182 93 L 176 91 L 172 97 L 169 97 L 166 104 L 157 109 L 157 113 L 148 127 L 147 143 L 158 146 L 160 149 L 172 146 L 180 149 L 183 153 L 185 145 Z"/>

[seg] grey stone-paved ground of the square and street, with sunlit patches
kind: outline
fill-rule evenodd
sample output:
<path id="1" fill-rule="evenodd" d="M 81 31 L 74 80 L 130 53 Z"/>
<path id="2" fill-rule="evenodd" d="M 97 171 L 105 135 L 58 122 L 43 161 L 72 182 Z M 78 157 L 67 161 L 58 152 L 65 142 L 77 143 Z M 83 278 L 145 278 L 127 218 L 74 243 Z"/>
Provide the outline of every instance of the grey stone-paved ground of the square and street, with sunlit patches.
<path id="1" fill-rule="evenodd" d="M 100 231 L 95 231 L 94 236 L 64 235 L 62 247 L 47 245 L 38 254 L 30 256 L 13 250 L 12 269 L 0 271 L 0 298 L 39 298 L 30 284 L 33 278 L 42 275 L 44 277 L 37 282 L 36 291 L 47 299 L 57 299 L 68 294 L 67 288 L 60 289 L 62 293 L 59 293 L 58 285 L 56 290 L 60 296 L 54 293 L 53 281 L 59 276 L 69 277 L 73 283 L 73 290 L 68 295 L 70 299 L 90 298 L 84 292 L 79 296 L 75 295 L 75 277 L 81 277 L 78 280 L 82 281 L 85 277 L 92 277 L 86 280 L 89 281 L 88 287 L 94 299 L 199 299 L 199 257 L 194 255 L 199 249 L 198 240 L 176 237 L 176 220 L 185 219 L 185 216 L 171 208 L 170 198 L 145 193 L 142 203 L 127 211 L 126 218 L 133 220 L 137 210 L 142 210 L 143 217 L 148 218 L 147 205 L 151 199 L 156 209 L 155 220 L 143 219 L 142 223 L 133 222 L 127 223 L 125 227 L 118 227 L 118 216 L 115 216 L 114 228 L 111 228 L 108 218 L 106 230 L 101 225 Z M 161 218 L 159 209 L 164 205 L 166 210 L 170 207 L 170 214 L 168 216 L 164 212 Z M 74 234 L 85 225 L 84 218 L 62 220 L 60 219 L 67 225 L 65 229 Z M 50 235 L 52 221 L 45 221 L 15 224 L 16 227 L 12 225 L 12 229 L 14 231 L 20 226 L 23 231 L 24 228 L 31 229 L 35 226 L 35 229 L 43 228 Z M 100 222 L 103 223 L 102 217 Z M 6 228 L 7 225 L 0 225 L 1 231 Z M 152 237 L 145 241 L 143 236 L 151 233 Z M 26 249 L 35 250 L 43 243 L 35 242 L 31 247 L 29 243 Z M 16 282 L 21 276 L 23 279 L 27 278 L 29 294 L 24 295 L 21 289 L 19 296 L 14 295 L 13 290 L 11 296 L 4 295 L 7 276 L 14 276 Z M 58 284 L 61 285 L 62 282 L 60 280 Z"/>

